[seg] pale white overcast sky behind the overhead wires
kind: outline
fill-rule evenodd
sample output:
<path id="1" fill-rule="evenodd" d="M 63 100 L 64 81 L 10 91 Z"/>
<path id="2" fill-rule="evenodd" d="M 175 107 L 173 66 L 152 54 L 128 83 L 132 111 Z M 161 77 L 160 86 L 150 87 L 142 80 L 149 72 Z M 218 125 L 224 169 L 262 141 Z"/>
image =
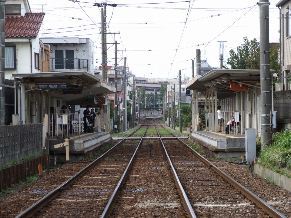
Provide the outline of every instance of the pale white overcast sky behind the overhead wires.
<path id="1" fill-rule="evenodd" d="M 279 9 L 275 6 L 278 1 L 269 1 L 270 42 L 279 42 Z M 44 37 L 90 38 L 95 42 L 94 46 L 97 46 L 94 59 L 98 59 L 95 66 L 99 66 L 100 8 L 93 7 L 95 0 L 80 2 L 92 4 L 79 5 L 68 0 L 29 0 L 32 12 L 41 12 L 41 4 L 46 4 L 43 6 L 46 13 L 43 22 Z M 201 60 L 204 60 L 205 54 L 211 66 L 219 67 L 217 41 L 227 41 L 224 51 L 224 61 L 227 61 L 229 50 L 241 45 L 243 37 L 259 40 L 259 6 L 256 5 L 256 0 L 196 0 L 190 4 L 178 0 L 177 3 L 136 5 L 161 2 L 174 1 L 108 2 L 117 4 L 117 7 L 107 6 L 107 22 L 110 20 L 108 32 L 120 31 L 120 35 L 115 36 L 117 42 L 121 43 L 118 49 L 127 50 L 123 54 L 120 51 L 118 57 L 126 56 L 127 66 L 138 77 L 177 78 L 178 70 L 182 70 L 182 76 L 192 77 L 191 59 L 196 57 L 196 49 L 201 49 Z M 42 37 L 42 30 L 39 35 Z M 107 38 L 107 42 L 114 42 L 114 35 L 108 35 Z M 179 49 L 176 50 L 178 46 Z M 109 65 L 114 64 L 113 57 L 114 46 L 108 50 L 108 59 L 111 61 Z M 123 60 L 119 64 L 123 66 Z"/>

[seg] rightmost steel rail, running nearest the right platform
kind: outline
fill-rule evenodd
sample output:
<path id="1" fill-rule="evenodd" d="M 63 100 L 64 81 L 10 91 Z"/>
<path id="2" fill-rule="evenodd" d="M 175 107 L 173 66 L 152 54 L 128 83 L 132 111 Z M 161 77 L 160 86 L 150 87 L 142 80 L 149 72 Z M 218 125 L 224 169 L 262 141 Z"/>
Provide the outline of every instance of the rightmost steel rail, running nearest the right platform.
<path id="1" fill-rule="evenodd" d="M 163 127 L 163 128 L 166 129 L 165 127 Z M 174 135 L 174 134 L 172 134 L 172 135 Z M 266 211 L 269 214 L 269 216 L 272 216 L 274 218 L 287 218 L 282 213 L 280 213 L 278 210 L 276 210 L 275 208 L 273 208 L 272 206 L 270 206 L 269 204 L 267 204 L 265 201 L 263 201 L 261 198 L 259 198 L 258 196 L 256 196 L 253 192 L 251 192 L 250 190 L 248 190 L 247 188 L 245 188 L 242 184 L 238 183 L 232 177 L 230 177 L 225 172 L 223 172 L 222 170 L 220 170 L 213 163 L 211 163 L 210 161 L 208 161 L 205 157 L 203 157 L 202 155 L 200 155 L 198 152 L 196 152 L 196 150 L 194 150 L 192 147 L 190 147 L 189 145 L 187 145 L 185 142 L 183 142 L 177 136 L 175 136 L 175 137 L 183 145 L 187 146 L 192 151 L 192 153 L 194 153 L 200 160 L 202 160 L 210 168 L 212 168 L 212 170 L 214 170 L 216 173 L 218 173 L 220 176 L 222 176 L 222 178 L 224 178 L 226 181 L 228 181 L 233 187 L 235 187 L 237 190 L 239 190 L 241 193 L 243 193 L 247 198 L 249 198 L 254 203 L 256 203 L 256 205 L 259 206 L 262 210 Z"/>

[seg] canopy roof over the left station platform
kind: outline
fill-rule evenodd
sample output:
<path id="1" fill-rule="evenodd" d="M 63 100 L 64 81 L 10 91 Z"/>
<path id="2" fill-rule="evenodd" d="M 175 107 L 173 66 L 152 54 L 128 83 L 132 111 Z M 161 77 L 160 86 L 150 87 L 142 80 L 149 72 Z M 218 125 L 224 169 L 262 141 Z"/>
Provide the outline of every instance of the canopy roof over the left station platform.
<path id="1" fill-rule="evenodd" d="M 17 81 L 28 84 L 29 90 L 44 91 L 51 97 L 77 103 L 83 99 L 115 93 L 113 86 L 85 71 L 12 74 Z M 97 98 L 98 99 L 98 98 Z M 104 102 L 104 99 L 102 103 Z"/>

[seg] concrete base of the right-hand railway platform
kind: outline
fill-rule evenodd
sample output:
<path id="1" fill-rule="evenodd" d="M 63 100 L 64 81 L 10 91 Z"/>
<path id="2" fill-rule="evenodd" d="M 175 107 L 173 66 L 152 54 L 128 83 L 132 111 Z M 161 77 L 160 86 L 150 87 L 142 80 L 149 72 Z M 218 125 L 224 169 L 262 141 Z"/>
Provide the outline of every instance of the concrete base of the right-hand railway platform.
<path id="1" fill-rule="evenodd" d="M 192 131 L 189 141 L 217 158 L 236 158 L 246 153 L 245 134 Z"/>

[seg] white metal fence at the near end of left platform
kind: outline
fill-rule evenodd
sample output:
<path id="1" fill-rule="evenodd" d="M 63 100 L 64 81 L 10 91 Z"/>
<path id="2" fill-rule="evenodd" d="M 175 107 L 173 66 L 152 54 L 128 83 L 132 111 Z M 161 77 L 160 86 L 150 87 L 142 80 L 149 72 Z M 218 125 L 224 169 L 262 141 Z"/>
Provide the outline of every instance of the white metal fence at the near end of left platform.
<path id="1" fill-rule="evenodd" d="M 48 122 L 48 137 L 55 138 L 56 136 L 65 138 L 80 137 L 81 119 L 80 114 L 47 114 Z"/>

